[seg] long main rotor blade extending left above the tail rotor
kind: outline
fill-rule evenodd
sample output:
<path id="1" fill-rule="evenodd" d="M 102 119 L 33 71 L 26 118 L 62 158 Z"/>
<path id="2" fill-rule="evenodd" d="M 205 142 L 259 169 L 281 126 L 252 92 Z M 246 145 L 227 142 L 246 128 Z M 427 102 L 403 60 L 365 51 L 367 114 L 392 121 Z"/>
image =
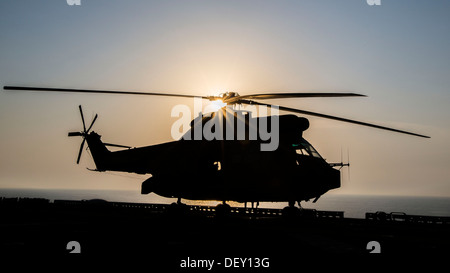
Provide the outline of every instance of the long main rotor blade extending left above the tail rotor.
<path id="1" fill-rule="evenodd" d="M 150 93 L 150 92 L 134 92 L 134 91 L 118 91 L 118 90 L 46 88 L 46 87 L 31 87 L 31 86 L 3 86 L 3 89 L 4 90 L 20 90 L 20 91 L 100 93 L 100 94 L 119 94 L 119 95 L 145 95 L 145 96 L 181 97 L 181 98 L 202 98 L 202 99 L 211 99 L 212 98 L 212 97 L 184 95 L 184 94 L 166 94 L 166 93 Z"/>

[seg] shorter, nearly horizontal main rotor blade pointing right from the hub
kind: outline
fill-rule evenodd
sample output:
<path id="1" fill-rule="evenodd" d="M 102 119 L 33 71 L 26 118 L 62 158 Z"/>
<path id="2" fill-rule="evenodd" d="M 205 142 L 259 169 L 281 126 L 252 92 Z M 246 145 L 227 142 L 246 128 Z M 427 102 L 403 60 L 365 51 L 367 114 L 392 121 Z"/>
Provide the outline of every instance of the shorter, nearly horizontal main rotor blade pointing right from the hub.
<path id="1" fill-rule="evenodd" d="M 226 102 L 235 102 L 239 100 L 267 100 L 267 99 L 287 99 L 287 98 L 336 98 L 336 97 L 367 97 L 366 95 L 355 93 L 268 93 L 253 94 L 232 97 Z"/>

